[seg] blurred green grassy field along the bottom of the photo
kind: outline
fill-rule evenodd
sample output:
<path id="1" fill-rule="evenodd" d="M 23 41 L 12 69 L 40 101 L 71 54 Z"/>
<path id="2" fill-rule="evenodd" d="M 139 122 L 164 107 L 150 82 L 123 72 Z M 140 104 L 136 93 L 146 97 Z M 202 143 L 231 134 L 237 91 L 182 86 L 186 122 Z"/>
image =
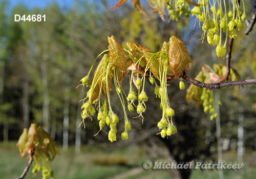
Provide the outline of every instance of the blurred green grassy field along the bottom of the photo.
<path id="1" fill-rule="evenodd" d="M 167 171 L 142 170 L 141 163 L 147 160 L 147 156 L 138 148 L 105 151 L 93 147 L 83 147 L 80 154 L 76 154 L 74 147 L 64 152 L 60 149 L 51 163 L 54 178 L 80 179 L 80 178 L 171 178 Z M 246 155 L 249 158 L 250 154 Z M 224 153 L 226 161 L 236 161 L 236 152 Z M 247 159 L 246 159 L 247 160 Z M 0 143 L 0 178 L 10 179 L 19 176 L 27 161 L 20 158 L 14 142 Z M 254 163 L 244 171 L 224 171 L 224 178 L 254 179 L 256 166 Z M 34 175 L 31 169 L 25 178 L 38 179 L 41 174 Z M 218 171 L 193 170 L 192 179 L 219 178 Z"/>

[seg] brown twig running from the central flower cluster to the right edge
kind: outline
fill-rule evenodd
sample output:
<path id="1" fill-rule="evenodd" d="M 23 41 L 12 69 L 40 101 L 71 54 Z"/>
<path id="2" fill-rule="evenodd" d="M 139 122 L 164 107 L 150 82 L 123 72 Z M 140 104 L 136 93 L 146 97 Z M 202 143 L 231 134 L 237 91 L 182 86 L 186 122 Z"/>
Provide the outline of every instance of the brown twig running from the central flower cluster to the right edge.
<path id="1" fill-rule="evenodd" d="M 183 71 L 181 75 L 182 79 L 185 80 L 188 83 L 194 84 L 198 87 L 205 87 L 210 90 L 212 89 L 220 89 L 222 87 L 230 87 L 230 86 L 239 86 L 239 85 L 246 85 L 246 84 L 256 84 L 256 78 L 251 80 L 241 80 L 241 81 L 227 81 L 222 83 L 204 83 L 201 81 L 198 81 L 196 79 L 190 78 L 186 75 L 185 71 Z"/>

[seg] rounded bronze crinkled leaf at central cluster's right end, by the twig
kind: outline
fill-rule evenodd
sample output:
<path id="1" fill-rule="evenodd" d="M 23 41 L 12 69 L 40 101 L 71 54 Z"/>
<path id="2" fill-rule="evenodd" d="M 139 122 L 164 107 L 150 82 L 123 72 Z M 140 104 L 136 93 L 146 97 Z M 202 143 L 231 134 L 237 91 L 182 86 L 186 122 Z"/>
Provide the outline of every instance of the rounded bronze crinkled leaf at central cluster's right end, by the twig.
<path id="1" fill-rule="evenodd" d="M 169 39 L 169 65 L 174 75 L 179 78 L 184 69 L 190 70 L 192 67 L 192 60 L 187 53 L 185 43 L 172 36 Z"/>

